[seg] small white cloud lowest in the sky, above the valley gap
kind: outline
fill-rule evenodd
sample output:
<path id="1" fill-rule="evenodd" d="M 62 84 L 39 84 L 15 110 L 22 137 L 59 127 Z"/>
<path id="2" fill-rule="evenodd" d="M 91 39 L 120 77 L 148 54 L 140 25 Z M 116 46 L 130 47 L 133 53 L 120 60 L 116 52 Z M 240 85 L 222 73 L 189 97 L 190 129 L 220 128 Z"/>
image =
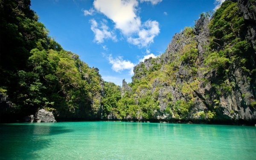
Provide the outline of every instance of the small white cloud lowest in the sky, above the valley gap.
<path id="1" fill-rule="evenodd" d="M 112 55 L 108 56 L 108 61 L 110 64 L 112 64 L 112 70 L 116 72 L 120 72 L 122 70 L 130 70 L 130 75 L 133 75 L 133 68 L 135 64 L 131 63 L 131 61 L 123 60 L 121 56 L 118 56 L 117 58 L 113 58 Z"/>

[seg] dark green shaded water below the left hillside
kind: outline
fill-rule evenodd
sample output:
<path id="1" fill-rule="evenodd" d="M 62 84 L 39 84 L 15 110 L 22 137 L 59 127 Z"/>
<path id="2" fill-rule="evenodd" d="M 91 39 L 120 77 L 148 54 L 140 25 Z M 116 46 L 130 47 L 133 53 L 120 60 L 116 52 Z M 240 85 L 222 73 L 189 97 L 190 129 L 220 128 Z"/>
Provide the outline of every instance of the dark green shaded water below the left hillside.
<path id="1" fill-rule="evenodd" d="M 0 125 L 0 157 L 4 159 L 37 159 L 35 151 L 52 145 L 50 135 L 72 132 L 53 123 L 17 123 Z M 22 157 L 22 158 L 20 158 Z"/>

